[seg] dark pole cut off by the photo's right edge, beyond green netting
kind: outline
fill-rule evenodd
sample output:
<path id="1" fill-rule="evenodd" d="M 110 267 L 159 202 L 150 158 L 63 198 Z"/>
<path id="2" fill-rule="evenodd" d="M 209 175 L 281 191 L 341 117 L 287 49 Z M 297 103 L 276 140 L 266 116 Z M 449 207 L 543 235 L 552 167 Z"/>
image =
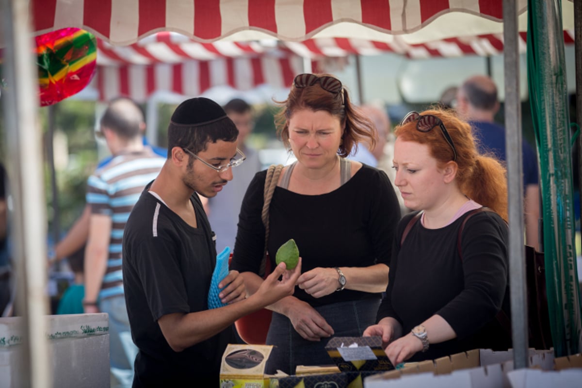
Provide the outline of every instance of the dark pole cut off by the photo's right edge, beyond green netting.
<path id="1" fill-rule="evenodd" d="M 574 1 L 574 53 L 576 56 L 576 121 L 579 126 L 582 126 L 582 1 Z M 582 204 L 582 133 L 578 134 L 578 195 Z M 580 205 L 578 216 L 582 225 L 582 205 Z"/>

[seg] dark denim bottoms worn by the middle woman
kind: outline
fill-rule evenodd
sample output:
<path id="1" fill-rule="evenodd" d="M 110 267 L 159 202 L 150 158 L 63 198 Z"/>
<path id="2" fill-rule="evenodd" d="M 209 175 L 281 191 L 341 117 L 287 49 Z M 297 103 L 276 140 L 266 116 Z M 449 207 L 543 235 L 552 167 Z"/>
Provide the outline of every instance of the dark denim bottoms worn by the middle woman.
<path id="1" fill-rule="evenodd" d="M 318 313 L 333 328 L 334 337 L 360 337 L 364 330 L 376 323 L 380 299 L 365 299 L 332 303 L 315 307 Z M 325 350 L 329 338 L 320 341 L 303 339 L 293 328 L 289 318 L 273 312 L 267 334 L 267 344 L 274 345 L 267 361 L 265 373 L 275 374 L 277 369 L 295 374 L 297 365 L 333 364 Z"/>

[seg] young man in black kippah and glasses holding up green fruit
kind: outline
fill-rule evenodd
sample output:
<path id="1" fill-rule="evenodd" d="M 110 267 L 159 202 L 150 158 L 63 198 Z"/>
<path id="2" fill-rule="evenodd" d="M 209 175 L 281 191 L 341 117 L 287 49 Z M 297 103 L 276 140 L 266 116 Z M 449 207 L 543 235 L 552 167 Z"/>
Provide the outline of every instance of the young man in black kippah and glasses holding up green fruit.
<path id="1" fill-rule="evenodd" d="M 242 276 L 230 271 L 218 284 L 228 305 L 208 310 L 217 251 L 198 194 L 214 197 L 232 180 L 244 161 L 237 134 L 214 101 L 182 102 L 168 127 L 168 159 L 129 216 L 123 284 L 139 348 L 134 387 L 217 386 L 222 354 L 235 341 L 232 323 L 293 293 L 300 265 L 293 272 L 279 265 L 248 298 Z"/>

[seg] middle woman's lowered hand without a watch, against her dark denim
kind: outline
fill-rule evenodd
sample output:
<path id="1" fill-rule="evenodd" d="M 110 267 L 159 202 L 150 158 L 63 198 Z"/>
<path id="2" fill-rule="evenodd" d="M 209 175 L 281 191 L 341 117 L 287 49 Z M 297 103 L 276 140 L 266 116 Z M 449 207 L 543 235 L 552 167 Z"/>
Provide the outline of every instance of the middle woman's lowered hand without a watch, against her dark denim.
<path id="1" fill-rule="evenodd" d="M 333 328 L 307 302 L 296 300 L 285 315 L 295 331 L 308 341 L 320 341 L 333 336 Z"/>

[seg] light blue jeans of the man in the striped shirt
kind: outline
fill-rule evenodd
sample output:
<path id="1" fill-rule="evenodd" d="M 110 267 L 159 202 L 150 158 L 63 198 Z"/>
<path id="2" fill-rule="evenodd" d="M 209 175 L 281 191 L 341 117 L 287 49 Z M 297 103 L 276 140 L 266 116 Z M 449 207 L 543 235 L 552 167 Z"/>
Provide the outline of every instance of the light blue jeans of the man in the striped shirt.
<path id="1" fill-rule="evenodd" d="M 109 363 L 111 364 L 111 388 L 131 387 L 133 362 L 137 347 L 133 343 L 123 295 L 100 302 L 101 312 L 109 314 Z"/>

